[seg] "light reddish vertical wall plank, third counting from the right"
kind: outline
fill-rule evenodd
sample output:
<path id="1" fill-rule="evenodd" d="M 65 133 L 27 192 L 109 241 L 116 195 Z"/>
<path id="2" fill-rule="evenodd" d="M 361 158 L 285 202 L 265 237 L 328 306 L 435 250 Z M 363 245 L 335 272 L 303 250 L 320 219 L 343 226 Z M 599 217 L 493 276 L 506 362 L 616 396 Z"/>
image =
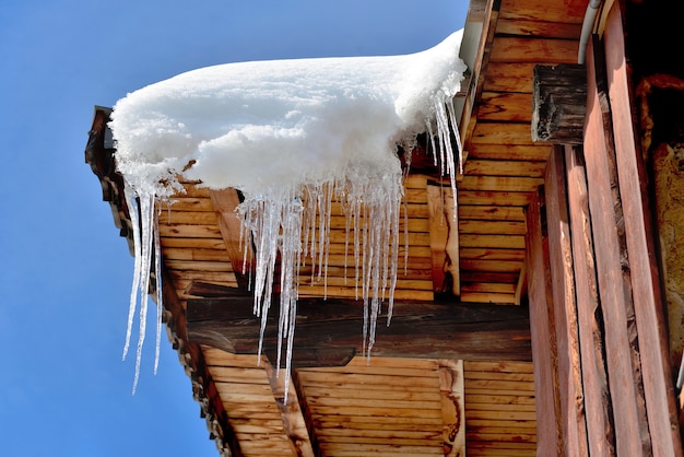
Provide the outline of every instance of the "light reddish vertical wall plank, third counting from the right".
<path id="1" fill-rule="evenodd" d="M 587 442 L 592 456 L 615 455 L 613 406 L 608 386 L 603 316 L 599 302 L 591 215 L 587 201 L 587 174 L 578 148 L 565 147 L 575 268 L 575 295 L 579 328 Z"/>

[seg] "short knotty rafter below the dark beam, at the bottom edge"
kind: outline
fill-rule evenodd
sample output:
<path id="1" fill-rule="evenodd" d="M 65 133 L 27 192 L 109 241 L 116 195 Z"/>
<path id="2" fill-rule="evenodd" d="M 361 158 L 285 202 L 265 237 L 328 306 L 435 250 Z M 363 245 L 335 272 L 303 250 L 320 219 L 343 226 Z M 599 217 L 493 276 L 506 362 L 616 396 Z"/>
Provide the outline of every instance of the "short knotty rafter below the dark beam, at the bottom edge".
<path id="1" fill-rule="evenodd" d="M 465 408 L 463 403 L 463 361 L 439 361 L 443 448 L 445 457 L 465 453 Z"/>

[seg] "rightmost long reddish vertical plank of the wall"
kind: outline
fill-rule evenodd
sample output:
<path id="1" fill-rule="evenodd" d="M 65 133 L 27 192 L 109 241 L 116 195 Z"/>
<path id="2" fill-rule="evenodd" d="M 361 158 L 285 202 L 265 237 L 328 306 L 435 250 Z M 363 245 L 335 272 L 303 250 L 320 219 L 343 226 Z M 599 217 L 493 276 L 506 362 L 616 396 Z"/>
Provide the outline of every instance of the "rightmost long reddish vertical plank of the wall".
<path id="1" fill-rule="evenodd" d="M 653 218 L 648 201 L 648 176 L 642 155 L 635 144 L 633 118 L 636 114 L 620 3 L 614 3 L 604 30 L 606 74 L 615 139 L 616 167 L 625 220 L 634 310 L 639 331 L 639 351 L 648 426 L 654 456 L 682 455 L 677 407 L 672 385 L 667 317 L 662 306 L 661 279 L 658 273 Z M 638 271 L 638 273 L 636 273 Z"/>

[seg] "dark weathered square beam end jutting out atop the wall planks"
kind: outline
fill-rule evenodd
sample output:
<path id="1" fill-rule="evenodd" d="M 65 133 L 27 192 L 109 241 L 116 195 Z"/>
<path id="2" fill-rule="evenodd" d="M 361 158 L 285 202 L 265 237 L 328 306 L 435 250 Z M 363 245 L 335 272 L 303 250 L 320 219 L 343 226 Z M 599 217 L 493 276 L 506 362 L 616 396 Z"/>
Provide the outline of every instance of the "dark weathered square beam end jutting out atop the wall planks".
<path id="1" fill-rule="evenodd" d="M 581 144 L 587 105 L 587 71 L 580 65 L 535 66 L 532 140 Z"/>

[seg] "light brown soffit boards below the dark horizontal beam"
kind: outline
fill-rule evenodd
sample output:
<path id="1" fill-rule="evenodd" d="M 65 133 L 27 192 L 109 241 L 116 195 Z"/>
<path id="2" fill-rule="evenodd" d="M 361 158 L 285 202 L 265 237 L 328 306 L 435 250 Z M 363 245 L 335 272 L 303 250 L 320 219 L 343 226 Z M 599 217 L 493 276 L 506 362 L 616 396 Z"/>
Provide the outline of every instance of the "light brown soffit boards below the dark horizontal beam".
<path id="1" fill-rule="evenodd" d="M 440 370 L 446 361 L 355 358 L 344 367 L 298 368 L 291 394 L 303 425 L 293 441 L 269 380 L 268 360 L 203 347 L 245 456 L 444 456 Z M 463 363 L 470 456 L 533 456 L 536 421 L 529 362 Z M 285 376 L 281 374 L 281 376 Z M 293 397 L 291 397 L 292 400 Z M 295 414 L 295 415 L 296 415 Z"/>

